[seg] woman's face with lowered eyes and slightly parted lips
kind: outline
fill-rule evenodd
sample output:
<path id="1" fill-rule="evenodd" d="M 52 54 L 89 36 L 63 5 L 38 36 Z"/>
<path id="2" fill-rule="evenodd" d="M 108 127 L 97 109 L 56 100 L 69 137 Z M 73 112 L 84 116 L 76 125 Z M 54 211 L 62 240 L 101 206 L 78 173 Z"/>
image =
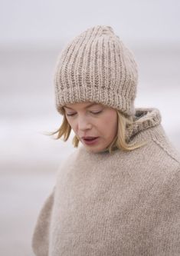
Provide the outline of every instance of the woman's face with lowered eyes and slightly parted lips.
<path id="1" fill-rule="evenodd" d="M 70 127 L 88 151 L 103 151 L 115 138 L 117 113 L 114 108 L 80 102 L 65 105 L 64 111 Z"/>

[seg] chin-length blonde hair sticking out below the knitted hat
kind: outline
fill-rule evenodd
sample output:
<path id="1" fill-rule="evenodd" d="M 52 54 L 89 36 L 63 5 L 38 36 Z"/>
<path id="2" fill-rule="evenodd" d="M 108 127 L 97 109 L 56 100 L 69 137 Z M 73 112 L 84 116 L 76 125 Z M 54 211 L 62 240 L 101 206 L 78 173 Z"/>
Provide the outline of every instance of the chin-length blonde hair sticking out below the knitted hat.
<path id="1" fill-rule="evenodd" d="M 51 132 L 48 135 L 55 135 L 57 134 L 57 137 L 54 139 L 60 139 L 61 137 L 64 137 L 63 140 L 67 141 L 67 139 L 70 136 L 71 127 L 67 121 L 64 108 L 62 108 L 63 111 L 63 121 L 61 124 L 61 127 L 57 129 L 57 131 Z M 123 151 L 132 151 L 133 149 L 140 148 L 142 145 L 146 145 L 146 142 L 140 142 L 140 143 L 129 143 L 126 141 L 126 128 L 131 127 L 133 125 L 133 117 L 127 118 L 125 115 L 121 113 L 121 111 L 116 110 L 117 116 L 118 116 L 118 127 L 117 127 L 117 134 L 116 137 L 113 139 L 111 144 L 106 148 L 110 153 L 116 149 L 122 149 Z M 80 140 L 77 138 L 77 135 L 73 138 L 73 145 L 74 148 L 77 148 L 79 145 Z"/>

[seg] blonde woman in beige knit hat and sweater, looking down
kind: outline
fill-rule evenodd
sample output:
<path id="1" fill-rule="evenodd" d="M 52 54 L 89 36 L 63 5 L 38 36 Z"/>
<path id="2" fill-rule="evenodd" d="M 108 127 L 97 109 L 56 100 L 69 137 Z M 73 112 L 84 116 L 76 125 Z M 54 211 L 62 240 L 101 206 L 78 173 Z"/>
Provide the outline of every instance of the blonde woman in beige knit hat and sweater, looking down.
<path id="1" fill-rule="evenodd" d="M 73 129 L 77 151 L 41 209 L 35 255 L 180 255 L 180 158 L 159 110 L 134 107 L 137 81 L 132 52 L 108 26 L 61 52 L 54 134 L 67 141 Z"/>

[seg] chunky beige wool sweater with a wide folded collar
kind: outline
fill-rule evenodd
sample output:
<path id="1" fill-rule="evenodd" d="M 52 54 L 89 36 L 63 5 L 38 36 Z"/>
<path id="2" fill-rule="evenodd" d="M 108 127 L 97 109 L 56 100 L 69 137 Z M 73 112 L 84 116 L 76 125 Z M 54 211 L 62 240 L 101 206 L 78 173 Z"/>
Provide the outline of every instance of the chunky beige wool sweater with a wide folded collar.
<path id="1" fill-rule="evenodd" d="M 180 157 L 155 108 L 136 108 L 133 151 L 83 145 L 57 173 L 34 229 L 37 256 L 180 255 Z"/>

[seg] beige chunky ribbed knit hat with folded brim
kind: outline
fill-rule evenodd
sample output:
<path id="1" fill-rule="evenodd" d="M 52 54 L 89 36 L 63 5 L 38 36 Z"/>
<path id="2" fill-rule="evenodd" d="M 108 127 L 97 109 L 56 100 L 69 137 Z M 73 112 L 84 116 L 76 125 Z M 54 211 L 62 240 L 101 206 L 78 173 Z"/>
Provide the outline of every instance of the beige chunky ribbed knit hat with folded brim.
<path id="1" fill-rule="evenodd" d="M 78 35 L 61 52 L 54 74 L 56 108 L 97 102 L 134 115 L 138 81 L 133 53 L 110 26 L 98 25 Z"/>

